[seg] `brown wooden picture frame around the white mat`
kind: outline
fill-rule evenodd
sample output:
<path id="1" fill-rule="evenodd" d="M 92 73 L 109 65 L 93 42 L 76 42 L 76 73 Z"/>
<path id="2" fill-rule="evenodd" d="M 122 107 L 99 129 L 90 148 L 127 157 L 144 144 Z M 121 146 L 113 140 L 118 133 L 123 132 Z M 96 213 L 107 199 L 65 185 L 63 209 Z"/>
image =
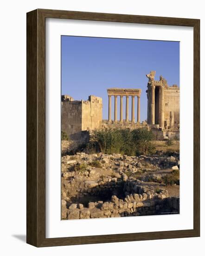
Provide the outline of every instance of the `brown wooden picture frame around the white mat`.
<path id="1" fill-rule="evenodd" d="M 74 19 L 193 27 L 193 229 L 45 238 L 45 19 Z M 200 236 L 200 20 L 37 9 L 27 13 L 27 243 L 37 247 Z"/>

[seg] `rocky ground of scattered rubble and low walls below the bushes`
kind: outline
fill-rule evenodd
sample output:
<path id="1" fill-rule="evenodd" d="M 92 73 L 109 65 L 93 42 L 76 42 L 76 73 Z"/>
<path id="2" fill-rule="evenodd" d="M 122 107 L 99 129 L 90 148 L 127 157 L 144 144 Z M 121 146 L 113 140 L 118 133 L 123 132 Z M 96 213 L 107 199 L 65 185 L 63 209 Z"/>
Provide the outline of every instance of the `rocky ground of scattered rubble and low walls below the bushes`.
<path id="1" fill-rule="evenodd" d="M 179 214 L 179 186 L 161 182 L 179 169 L 178 157 L 62 157 L 62 219 Z"/>

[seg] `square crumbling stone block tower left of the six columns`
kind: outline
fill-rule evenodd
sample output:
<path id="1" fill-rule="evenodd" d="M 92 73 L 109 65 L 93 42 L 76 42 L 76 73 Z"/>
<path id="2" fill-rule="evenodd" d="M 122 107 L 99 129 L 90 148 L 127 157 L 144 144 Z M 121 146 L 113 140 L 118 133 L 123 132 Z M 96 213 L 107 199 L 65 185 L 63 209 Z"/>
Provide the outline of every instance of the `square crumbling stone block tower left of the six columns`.
<path id="1" fill-rule="evenodd" d="M 90 95 L 87 101 L 74 101 L 69 95 L 62 95 L 61 130 L 71 140 L 85 141 L 87 131 L 102 126 L 102 98 Z"/>

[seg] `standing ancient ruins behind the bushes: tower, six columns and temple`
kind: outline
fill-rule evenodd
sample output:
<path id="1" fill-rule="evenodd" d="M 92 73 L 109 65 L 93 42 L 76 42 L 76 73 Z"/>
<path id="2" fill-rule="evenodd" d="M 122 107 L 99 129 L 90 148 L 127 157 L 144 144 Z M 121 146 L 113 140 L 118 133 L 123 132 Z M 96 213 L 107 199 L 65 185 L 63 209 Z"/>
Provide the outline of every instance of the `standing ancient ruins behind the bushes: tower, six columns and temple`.
<path id="1" fill-rule="evenodd" d="M 156 140 L 179 139 L 179 87 L 169 86 L 160 76 L 154 79 L 155 71 L 147 74 L 147 121 L 140 122 L 141 89 L 109 88 L 108 120 L 102 119 L 102 98 L 90 95 L 87 101 L 75 101 L 69 95 L 62 95 L 62 130 L 71 140 L 85 142 L 89 131 L 101 128 L 152 129 Z M 114 96 L 114 120 L 111 119 L 111 98 Z M 117 120 L 117 97 L 120 97 L 120 120 Z M 126 97 L 126 118 L 123 120 L 123 97 Z M 129 120 L 129 98 L 132 99 L 131 120 Z M 137 97 L 137 120 L 135 121 L 135 97 Z"/>

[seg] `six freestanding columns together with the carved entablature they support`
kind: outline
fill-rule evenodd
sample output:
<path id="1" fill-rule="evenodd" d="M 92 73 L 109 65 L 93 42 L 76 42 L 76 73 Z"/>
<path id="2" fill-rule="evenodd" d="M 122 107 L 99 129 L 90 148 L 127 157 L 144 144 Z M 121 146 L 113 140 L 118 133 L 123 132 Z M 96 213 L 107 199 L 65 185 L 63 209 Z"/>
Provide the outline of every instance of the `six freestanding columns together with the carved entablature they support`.
<path id="1" fill-rule="evenodd" d="M 111 97 L 115 97 L 115 112 L 114 122 L 117 122 L 117 96 L 120 96 L 120 122 L 123 122 L 123 96 L 126 96 L 126 122 L 129 122 L 129 96 L 132 97 L 132 123 L 135 123 L 135 96 L 137 96 L 137 122 L 140 122 L 140 96 L 141 89 L 127 89 L 127 88 L 109 88 L 108 91 L 108 121 L 112 122 L 111 119 Z"/>

